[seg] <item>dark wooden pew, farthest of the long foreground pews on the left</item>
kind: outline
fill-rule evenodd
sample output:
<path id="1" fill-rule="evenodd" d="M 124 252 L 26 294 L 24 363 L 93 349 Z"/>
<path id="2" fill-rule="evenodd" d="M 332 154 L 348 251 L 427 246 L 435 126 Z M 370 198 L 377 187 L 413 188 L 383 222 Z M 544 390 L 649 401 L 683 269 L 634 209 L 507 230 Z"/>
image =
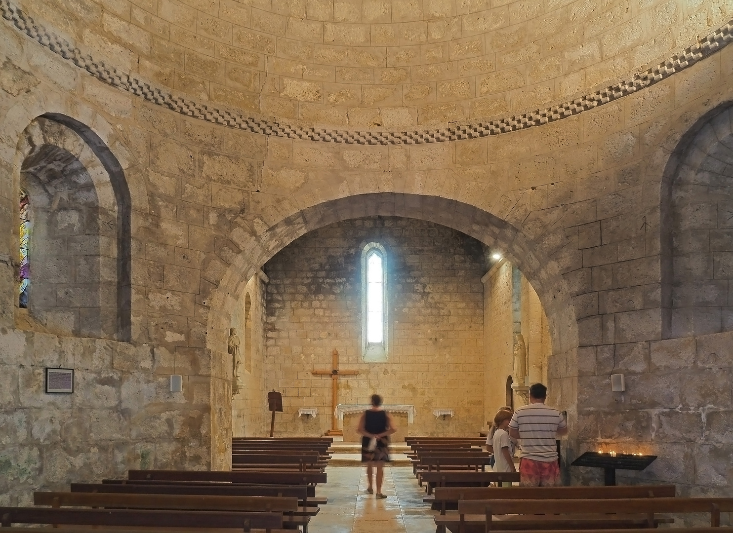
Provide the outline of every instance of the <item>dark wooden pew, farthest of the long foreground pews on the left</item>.
<path id="1" fill-rule="evenodd" d="M 219 481 L 258 485 L 317 485 L 325 472 L 226 471 L 226 470 L 129 470 L 129 480 Z"/>

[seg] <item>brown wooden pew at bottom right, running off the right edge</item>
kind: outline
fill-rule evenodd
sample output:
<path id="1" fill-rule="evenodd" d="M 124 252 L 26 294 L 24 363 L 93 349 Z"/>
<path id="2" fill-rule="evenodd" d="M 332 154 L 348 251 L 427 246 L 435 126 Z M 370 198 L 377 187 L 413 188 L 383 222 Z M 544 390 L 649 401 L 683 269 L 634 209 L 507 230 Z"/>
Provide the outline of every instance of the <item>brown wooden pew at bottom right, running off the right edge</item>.
<path id="1" fill-rule="evenodd" d="M 733 498 L 498 499 L 460 500 L 457 515 L 436 516 L 436 525 L 454 533 L 527 529 L 626 529 L 671 523 L 659 513 L 710 514 L 718 527 Z"/>

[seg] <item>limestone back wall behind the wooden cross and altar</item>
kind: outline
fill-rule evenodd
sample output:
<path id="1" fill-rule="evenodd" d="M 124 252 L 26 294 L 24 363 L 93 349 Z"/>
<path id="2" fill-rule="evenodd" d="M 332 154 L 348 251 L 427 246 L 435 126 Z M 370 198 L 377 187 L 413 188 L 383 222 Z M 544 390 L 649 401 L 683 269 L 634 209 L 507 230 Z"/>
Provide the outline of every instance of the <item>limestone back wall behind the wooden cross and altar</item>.
<path id="1" fill-rule="evenodd" d="M 386 248 L 388 361 L 365 363 L 361 354 L 361 250 Z M 283 393 L 280 435 L 317 436 L 331 428 L 331 368 L 339 350 L 340 403 L 416 407 L 405 435 L 473 435 L 483 416 L 484 254 L 479 242 L 424 221 L 371 217 L 312 231 L 265 264 L 268 389 Z M 299 407 L 317 407 L 315 420 Z M 437 420 L 432 409 L 454 409 Z M 406 422 L 406 420 L 405 420 Z M 356 420 L 352 420 L 356 424 Z"/>

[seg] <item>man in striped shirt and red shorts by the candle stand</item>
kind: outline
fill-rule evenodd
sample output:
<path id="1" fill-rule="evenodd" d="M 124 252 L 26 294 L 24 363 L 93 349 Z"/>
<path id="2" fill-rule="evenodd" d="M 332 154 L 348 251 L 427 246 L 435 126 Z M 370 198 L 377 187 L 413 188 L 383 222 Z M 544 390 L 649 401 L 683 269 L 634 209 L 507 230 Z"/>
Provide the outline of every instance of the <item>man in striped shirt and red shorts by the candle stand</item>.
<path id="1" fill-rule="evenodd" d="M 529 404 L 517 408 L 509 422 L 509 436 L 522 443 L 522 486 L 553 487 L 560 477 L 556 439 L 567 434 L 567 423 L 560 411 L 545 405 L 547 395 L 548 388 L 541 383 L 529 387 Z"/>

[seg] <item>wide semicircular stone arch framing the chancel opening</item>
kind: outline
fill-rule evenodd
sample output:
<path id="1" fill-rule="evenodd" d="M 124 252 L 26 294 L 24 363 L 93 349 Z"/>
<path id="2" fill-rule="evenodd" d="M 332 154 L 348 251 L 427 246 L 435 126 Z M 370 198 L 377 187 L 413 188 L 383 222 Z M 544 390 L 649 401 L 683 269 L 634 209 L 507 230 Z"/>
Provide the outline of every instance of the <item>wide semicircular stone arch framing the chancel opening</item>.
<path id="1" fill-rule="evenodd" d="M 426 220 L 461 231 L 501 250 L 530 281 L 545 307 L 550 322 L 553 354 L 565 354 L 578 346 L 578 324 L 560 273 L 560 266 L 546 257 L 530 236 L 513 225 L 475 206 L 438 196 L 405 193 L 372 193 L 326 201 L 303 209 L 256 235 L 245 235 L 233 226 L 230 239 L 240 253 L 219 265 L 222 276 L 210 298 L 207 345 L 226 346 L 229 316 L 237 306 L 247 281 L 279 250 L 298 237 L 325 225 L 358 217 L 397 216 Z M 231 251 L 231 250 L 230 250 Z"/>

